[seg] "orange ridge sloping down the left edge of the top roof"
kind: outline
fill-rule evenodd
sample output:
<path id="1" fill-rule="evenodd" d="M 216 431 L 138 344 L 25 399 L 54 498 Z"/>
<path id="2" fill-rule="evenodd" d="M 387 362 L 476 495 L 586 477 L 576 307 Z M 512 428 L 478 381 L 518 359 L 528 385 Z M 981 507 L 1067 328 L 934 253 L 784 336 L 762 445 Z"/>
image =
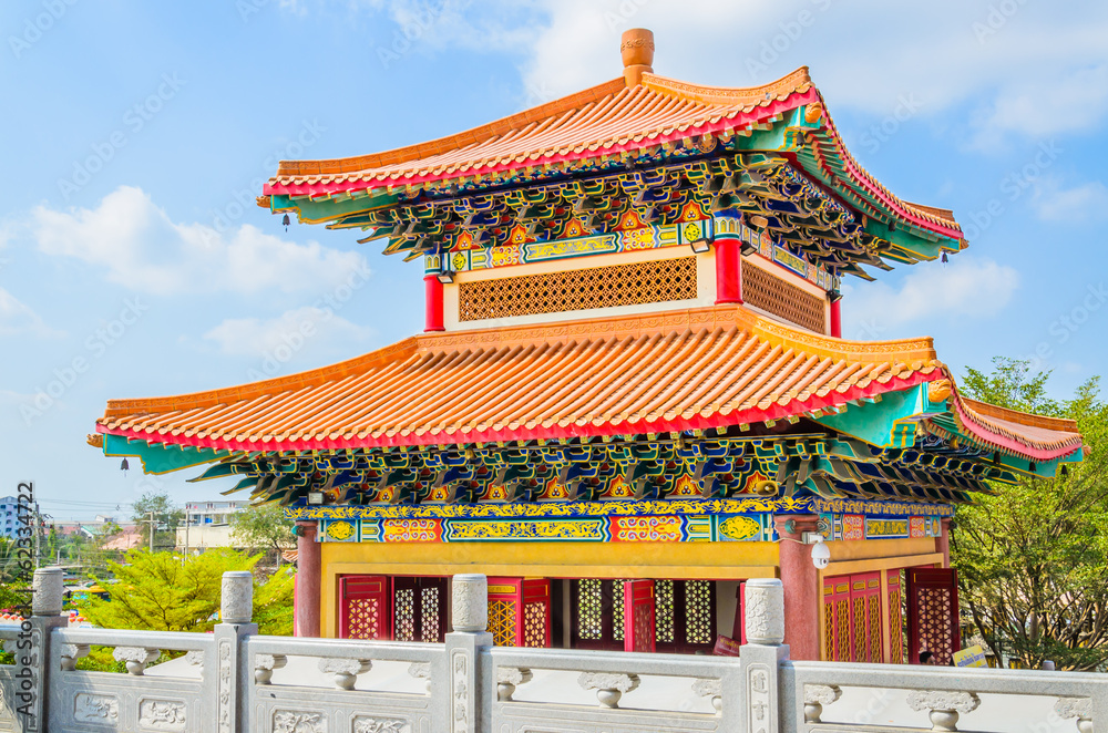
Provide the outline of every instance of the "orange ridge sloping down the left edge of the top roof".
<path id="1" fill-rule="evenodd" d="M 450 151 L 462 149 L 469 145 L 484 142 L 493 137 L 506 135 L 517 130 L 543 122 L 550 117 L 555 117 L 573 110 L 579 110 L 589 104 L 594 104 L 606 97 L 620 92 L 628 91 L 624 78 L 591 86 L 586 90 L 563 96 L 545 104 L 516 112 L 515 114 L 493 122 L 485 123 L 478 127 L 464 132 L 447 135 L 437 140 L 397 147 L 391 151 L 371 153 L 369 155 L 356 155 L 345 158 L 330 158 L 322 161 L 281 161 L 277 166 L 277 175 L 281 176 L 312 176 L 312 175 L 335 175 L 342 173 L 357 173 L 367 168 L 377 168 L 388 165 L 400 165 L 412 161 L 420 161 L 431 155 L 441 155 Z"/>

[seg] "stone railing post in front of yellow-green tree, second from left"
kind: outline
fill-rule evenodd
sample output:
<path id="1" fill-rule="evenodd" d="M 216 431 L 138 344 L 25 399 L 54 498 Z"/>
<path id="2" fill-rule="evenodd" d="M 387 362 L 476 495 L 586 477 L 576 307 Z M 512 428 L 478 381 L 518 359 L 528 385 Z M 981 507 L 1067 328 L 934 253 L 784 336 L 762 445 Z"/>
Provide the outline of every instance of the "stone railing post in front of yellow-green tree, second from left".
<path id="1" fill-rule="evenodd" d="M 218 733 L 245 731 L 245 691 L 254 681 L 254 668 L 244 659 L 243 638 L 258 632 L 254 618 L 254 575 L 248 570 L 223 574 L 219 623 L 215 627 L 215 674 L 205 669 L 204 682 L 215 700 Z"/>

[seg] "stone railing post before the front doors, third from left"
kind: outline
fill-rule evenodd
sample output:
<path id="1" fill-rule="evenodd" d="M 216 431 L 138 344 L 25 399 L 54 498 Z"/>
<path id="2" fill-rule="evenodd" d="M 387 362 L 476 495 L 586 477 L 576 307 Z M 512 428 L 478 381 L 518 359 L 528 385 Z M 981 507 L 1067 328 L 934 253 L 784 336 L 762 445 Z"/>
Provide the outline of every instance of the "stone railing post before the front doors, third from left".
<path id="1" fill-rule="evenodd" d="M 490 730 L 491 702 L 485 693 L 495 689 L 489 670 L 482 669 L 481 652 L 492 646 L 489 627 L 489 579 L 483 575 L 455 575 L 452 579 L 451 620 L 447 634 L 447 690 L 444 729 L 450 733 Z M 489 677 L 489 679 L 485 679 Z M 434 680 L 432 680 L 432 685 Z M 441 689 L 441 688 L 440 688 Z"/>

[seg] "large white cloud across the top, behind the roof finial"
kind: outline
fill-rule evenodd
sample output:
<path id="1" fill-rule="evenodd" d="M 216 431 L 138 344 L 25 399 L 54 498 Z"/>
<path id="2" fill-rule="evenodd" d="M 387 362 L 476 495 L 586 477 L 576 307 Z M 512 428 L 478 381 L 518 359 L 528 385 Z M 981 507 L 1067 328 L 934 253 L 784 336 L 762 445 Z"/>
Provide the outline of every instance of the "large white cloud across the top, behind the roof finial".
<path id="1" fill-rule="evenodd" d="M 398 23 L 424 7 L 421 0 L 370 4 Z M 618 76 L 619 34 L 640 27 L 655 32 L 661 75 L 745 86 L 809 65 L 832 113 L 888 114 L 906 94 L 927 114 L 968 103 L 982 144 L 986 130 L 1050 135 L 1108 114 L 1108 4 L 1094 0 L 1068 3 L 1064 13 L 1026 0 L 448 0 L 443 7 L 443 22 L 413 43 L 520 54 L 529 103 Z"/>

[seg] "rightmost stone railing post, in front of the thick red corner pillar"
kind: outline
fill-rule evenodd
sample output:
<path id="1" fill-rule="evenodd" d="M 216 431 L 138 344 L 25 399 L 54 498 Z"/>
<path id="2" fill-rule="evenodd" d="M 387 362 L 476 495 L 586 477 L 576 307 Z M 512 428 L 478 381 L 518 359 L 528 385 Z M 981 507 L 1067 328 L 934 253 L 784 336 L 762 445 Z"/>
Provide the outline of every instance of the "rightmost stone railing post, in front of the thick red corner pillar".
<path id="1" fill-rule="evenodd" d="M 742 670 L 742 699 L 739 710 L 746 724 L 733 730 L 751 733 L 780 733 L 780 685 L 778 664 L 788 659 L 784 646 L 784 587 L 777 578 L 747 580 L 743 595 L 747 643 L 739 650 Z M 724 699 L 724 712 L 728 701 Z M 738 723 L 738 721 L 735 721 Z"/>

